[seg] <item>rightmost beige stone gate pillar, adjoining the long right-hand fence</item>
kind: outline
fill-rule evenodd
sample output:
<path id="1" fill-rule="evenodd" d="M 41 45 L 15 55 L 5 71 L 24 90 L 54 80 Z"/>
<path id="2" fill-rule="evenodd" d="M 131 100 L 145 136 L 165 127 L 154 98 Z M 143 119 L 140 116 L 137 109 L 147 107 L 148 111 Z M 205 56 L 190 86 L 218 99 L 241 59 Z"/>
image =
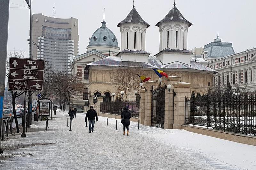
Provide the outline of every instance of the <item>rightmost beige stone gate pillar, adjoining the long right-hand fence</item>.
<path id="1" fill-rule="evenodd" d="M 185 97 L 190 96 L 190 83 L 179 82 L 173 85 L 176 97 L 173 106 L 173 129 L 182 129 L 185 124 Z"/>

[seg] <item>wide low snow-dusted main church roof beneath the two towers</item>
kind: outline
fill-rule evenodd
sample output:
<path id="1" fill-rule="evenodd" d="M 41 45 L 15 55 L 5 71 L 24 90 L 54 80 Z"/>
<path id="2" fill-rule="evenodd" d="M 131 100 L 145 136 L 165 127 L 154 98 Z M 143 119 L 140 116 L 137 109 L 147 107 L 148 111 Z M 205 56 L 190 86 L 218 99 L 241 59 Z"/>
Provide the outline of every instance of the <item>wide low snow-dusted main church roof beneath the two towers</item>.
<path id="1" fill-rule="evenodd" d="M 142 62 L 129 62 L 129 61 L 122 61 L 121 57 L 118 56 L 109 56 L 103 58 L 101 60 L 89 63 L 86 65 L 86 68 L 90 66 L 123 66 L 129 67 L 133 65 L 132 63 L 136 63 L 137 67 L 143 68 L 155 68 L 155 69 L 193 69 L 193 70 L 202 70 L 202 71 L 212 71 L 213 73 L 217 73 L 217 71 L 206 67 L 198 62 L 191 61 L 191 65 L 181 63 L 181 62 L 172 62 L 168 64 L 162 64 L 160 60 L 156 59 L 156 56 L 148 56 L 148 63 Z"/>

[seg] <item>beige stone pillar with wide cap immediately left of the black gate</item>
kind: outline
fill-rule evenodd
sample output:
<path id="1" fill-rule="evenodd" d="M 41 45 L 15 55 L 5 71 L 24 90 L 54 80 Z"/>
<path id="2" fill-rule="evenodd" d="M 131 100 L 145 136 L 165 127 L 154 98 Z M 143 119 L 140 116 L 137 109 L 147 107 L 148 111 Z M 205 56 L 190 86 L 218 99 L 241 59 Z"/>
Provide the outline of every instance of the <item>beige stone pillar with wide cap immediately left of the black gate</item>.
<path id="1" fill-rule="evenodd" d="M 151 126 L 151 102 L 152 102 L 152 92 L 151 87 L 155 88 L 158 83 L 154 81 L 148 81 L 145 83 L 145 88 L 147 92 L 145 92 L 145 119 L 144 125 Z"/>

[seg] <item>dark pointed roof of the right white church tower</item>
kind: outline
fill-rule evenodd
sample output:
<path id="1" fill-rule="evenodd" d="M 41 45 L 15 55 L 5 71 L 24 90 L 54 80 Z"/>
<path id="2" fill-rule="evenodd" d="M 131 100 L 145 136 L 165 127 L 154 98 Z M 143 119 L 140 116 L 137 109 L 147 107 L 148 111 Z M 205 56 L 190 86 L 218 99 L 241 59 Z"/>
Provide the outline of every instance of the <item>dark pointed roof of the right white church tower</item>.
<path id="1" fill-rule="evenodd" d="M 156 26 L 159 26 L 160 23 L 163 22 L 170 22 L 170 21 L 179 21 L 179 22 L 186 22 L 188 23 L 188 27 L 192 25 L 191 22 L 189 22 L 187 19 L 185 19 L 183 17 L 183 15 L 180 13 L 180 11 L 178 10 L 178 8 L 175 6 L 172 7 L 171 11 L 168 12 L 168 14 L 164 17 L 164 19 L 162 19 L 161 21 L 159 21 Z"/>

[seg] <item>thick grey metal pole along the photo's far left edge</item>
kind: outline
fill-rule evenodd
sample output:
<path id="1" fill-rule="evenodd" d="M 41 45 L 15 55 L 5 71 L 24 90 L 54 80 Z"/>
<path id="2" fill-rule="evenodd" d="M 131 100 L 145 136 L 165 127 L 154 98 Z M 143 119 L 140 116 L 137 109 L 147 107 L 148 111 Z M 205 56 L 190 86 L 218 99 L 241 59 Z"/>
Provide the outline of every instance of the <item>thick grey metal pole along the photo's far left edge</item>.
<path id="1" fill-rule="evenodd" d="M 4 87 L 5 87 L 5 69 L 6 69 L 6 56 L 7 56 L 7 39 L 8 39 L 8 21 L 9 21 L 9 0 L 0 0 L 1 10 L 0 10 L 0 134 L 2 135 L 2 120 L 3 120 L 3 99 L 4 99 Z M 1 149 L 1 139 L 0 139 L 0 153 Z"/>

